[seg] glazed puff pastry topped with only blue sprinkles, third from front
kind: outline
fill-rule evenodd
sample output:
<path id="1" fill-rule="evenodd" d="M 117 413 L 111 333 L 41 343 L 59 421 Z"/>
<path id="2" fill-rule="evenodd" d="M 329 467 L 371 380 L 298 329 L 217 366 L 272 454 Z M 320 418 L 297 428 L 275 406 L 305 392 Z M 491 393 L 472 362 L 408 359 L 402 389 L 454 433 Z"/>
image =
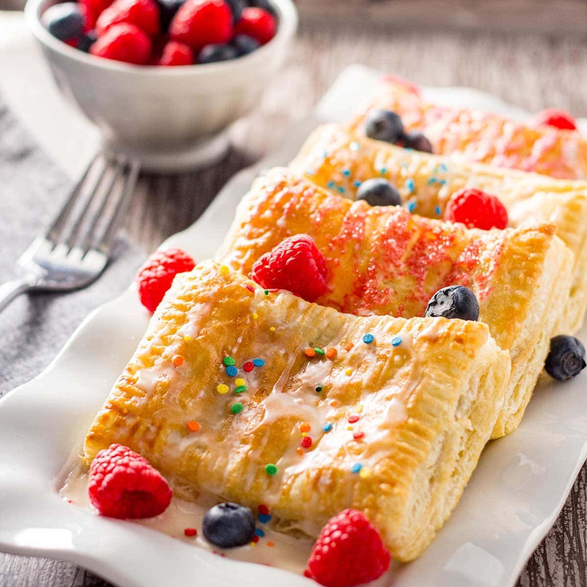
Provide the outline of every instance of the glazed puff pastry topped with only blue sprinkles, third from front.
<path id="1" fill-rule="evenodd" d="M 497 195 L 513 227 L 528 220 L 552 222 L 575 255 L 571 296 L 556 330 L 569 334 L 581 327 L 587 309 L 587 182 L 406 150 L 335 125 L 316 129 L 291 167 L 351 200 L 363 181 L 384 177 L 410 210 L 431 218 L 443 216 L 458 190 L 475 187 Z"/>

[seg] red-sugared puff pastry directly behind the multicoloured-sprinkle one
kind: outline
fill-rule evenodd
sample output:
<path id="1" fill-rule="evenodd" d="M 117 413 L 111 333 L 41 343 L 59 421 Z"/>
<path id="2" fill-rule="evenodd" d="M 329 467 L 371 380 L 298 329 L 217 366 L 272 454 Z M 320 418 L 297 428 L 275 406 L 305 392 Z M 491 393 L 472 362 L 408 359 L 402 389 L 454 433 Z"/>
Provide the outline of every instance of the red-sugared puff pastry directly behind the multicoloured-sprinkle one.
<path id="1" fill-rule="evenodd" d="M 480 320 L 510 350 L 511 379 L 494 437 L 515 430 L 564 312 L 572 254 L 553 224 L 478 230 L 401 207 L 370 207 L 276 169 L 242 200 L 217 258 L 249 274 L 262 254 L 305 233 L 326 262 L 329 291 L 316 299 L 357 315 L 423 316 L 448 285 L 473 289 Z"/>

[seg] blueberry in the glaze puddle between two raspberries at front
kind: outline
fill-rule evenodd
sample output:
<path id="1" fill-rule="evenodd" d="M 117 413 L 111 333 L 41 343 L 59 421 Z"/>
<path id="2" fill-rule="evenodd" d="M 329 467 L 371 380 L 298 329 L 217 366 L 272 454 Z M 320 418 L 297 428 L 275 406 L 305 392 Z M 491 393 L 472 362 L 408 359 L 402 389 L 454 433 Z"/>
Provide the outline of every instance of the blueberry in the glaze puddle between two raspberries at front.
<path id="1" fill-rule="evenodd" d="M 255 535 L 255 518 L 249 508 L 227 501 L 205 513 L 202 532 L 208 542 L 219 548 L 243 546 Z"/>

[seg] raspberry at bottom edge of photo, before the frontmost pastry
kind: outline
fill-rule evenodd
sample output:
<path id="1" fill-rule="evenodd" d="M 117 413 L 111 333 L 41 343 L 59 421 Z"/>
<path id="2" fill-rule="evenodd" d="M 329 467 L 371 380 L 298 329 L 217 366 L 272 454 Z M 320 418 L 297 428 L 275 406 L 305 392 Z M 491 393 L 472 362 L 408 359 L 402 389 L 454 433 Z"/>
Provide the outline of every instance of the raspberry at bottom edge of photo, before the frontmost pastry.
<path id="1" fill-rule="evenodd" d="M 305 575 L 326 587 L 353 587 L 375 581 L 390 563 L 389 551 L 365 514 L 344 510 L 322 528 Z"/>

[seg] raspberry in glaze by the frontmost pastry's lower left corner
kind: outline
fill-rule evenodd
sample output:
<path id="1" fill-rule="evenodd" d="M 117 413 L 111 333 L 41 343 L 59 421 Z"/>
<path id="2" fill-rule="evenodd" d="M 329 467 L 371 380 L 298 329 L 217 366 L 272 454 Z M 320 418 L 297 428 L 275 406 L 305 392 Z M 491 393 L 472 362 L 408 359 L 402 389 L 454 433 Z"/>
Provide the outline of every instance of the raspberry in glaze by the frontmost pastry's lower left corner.
<path id="1" fill-rule="evenodd" d="M 96 455 L 87 492 L 96 510 L 110 518 L 152 518 L 171 502 L 163 475 L 122 444 L 111 444 Z"/>

